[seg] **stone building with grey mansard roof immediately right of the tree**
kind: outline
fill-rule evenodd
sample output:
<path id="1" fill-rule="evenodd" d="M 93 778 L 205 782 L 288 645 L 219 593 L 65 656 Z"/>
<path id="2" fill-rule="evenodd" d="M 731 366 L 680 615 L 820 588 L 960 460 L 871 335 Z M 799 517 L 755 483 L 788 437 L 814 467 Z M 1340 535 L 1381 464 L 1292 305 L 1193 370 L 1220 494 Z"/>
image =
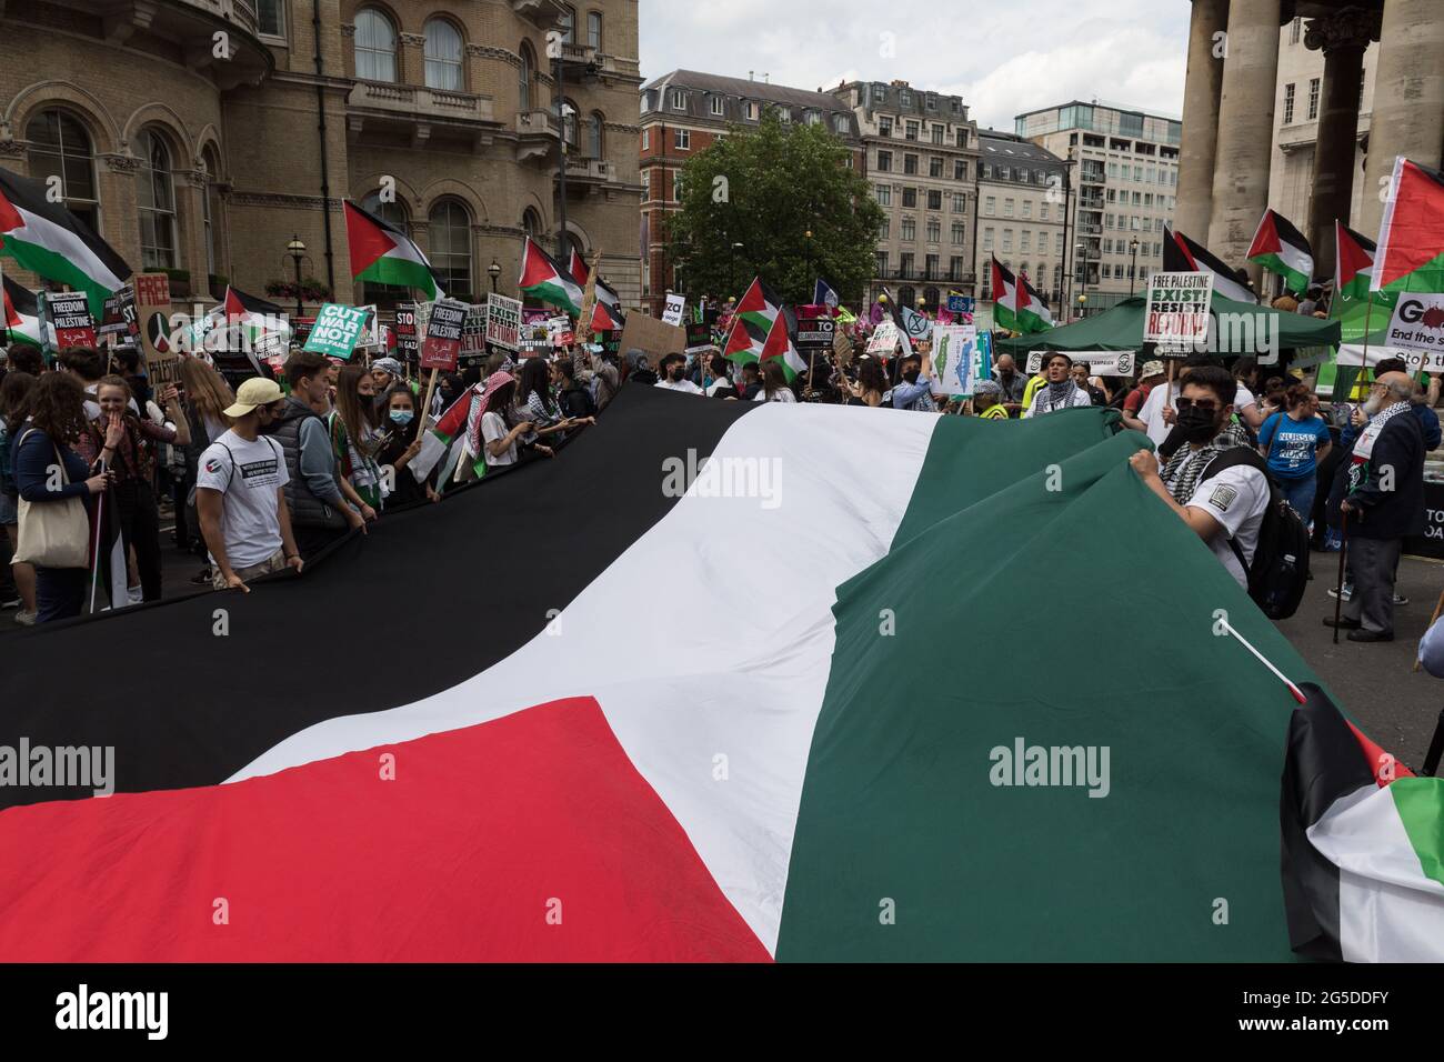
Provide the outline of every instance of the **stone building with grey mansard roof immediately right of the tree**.
<path id="1" fill-rule="evenodd" d="M 928 311 L 946 303 L 949 290 L 976 295 L 980 152 L 967 104 L 907 81 L 848 82 L 832 94 L 856 116 L 864 172 L 887 214 L 868 302 L 884 288 Z"/>

